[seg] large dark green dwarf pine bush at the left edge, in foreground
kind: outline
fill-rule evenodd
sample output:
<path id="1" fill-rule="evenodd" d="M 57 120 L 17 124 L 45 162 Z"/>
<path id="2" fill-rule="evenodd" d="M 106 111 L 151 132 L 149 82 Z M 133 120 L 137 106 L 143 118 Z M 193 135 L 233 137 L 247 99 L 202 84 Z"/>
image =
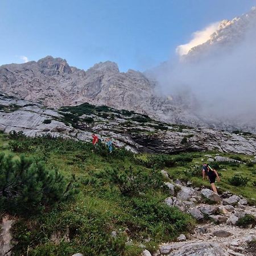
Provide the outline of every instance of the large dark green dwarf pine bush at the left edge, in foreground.
<path id="1" fill-rule="evenodd" d="M 57 171 L 46 169 L 23 155 L 19 160 L 0 154 L 1 210 L 17 214 L 34 214 L 76 193 L 75 177 L 67 181 Z"/>

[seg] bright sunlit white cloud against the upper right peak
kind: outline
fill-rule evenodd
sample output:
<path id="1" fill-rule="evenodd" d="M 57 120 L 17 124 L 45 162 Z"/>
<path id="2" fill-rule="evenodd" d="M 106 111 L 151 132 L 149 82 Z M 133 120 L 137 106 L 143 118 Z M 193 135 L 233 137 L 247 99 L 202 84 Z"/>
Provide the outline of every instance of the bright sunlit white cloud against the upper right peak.
<path id="1" fill-rule="evenodd" d="M 205 27 L 203 30 L 194 32 L 192 40 L 187 44 L 181 44 L 180 46 L 177 46 L 176 52 L 180 56 L 186 55 L 193 47 L 207 42 L 210 39 L 210 35 L 218 30 L 219 24 L 220 22 L 212 23 Z"/>

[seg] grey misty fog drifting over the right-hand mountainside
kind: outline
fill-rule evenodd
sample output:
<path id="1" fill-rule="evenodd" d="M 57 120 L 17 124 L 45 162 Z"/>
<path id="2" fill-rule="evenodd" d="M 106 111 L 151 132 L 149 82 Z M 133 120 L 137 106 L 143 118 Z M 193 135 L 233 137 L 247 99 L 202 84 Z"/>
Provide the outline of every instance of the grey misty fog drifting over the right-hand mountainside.
<path id="1" fill-rule="evenodd" d="M 209 46 L 207 54 L 199 50 L 196 56 L 177 56 L 155 69 L 160 91 L 164 95 L 190 92 L 199 102 L 196 112 L 202 115 L 256 120 L 255 21 L 242 40 Z"/>

